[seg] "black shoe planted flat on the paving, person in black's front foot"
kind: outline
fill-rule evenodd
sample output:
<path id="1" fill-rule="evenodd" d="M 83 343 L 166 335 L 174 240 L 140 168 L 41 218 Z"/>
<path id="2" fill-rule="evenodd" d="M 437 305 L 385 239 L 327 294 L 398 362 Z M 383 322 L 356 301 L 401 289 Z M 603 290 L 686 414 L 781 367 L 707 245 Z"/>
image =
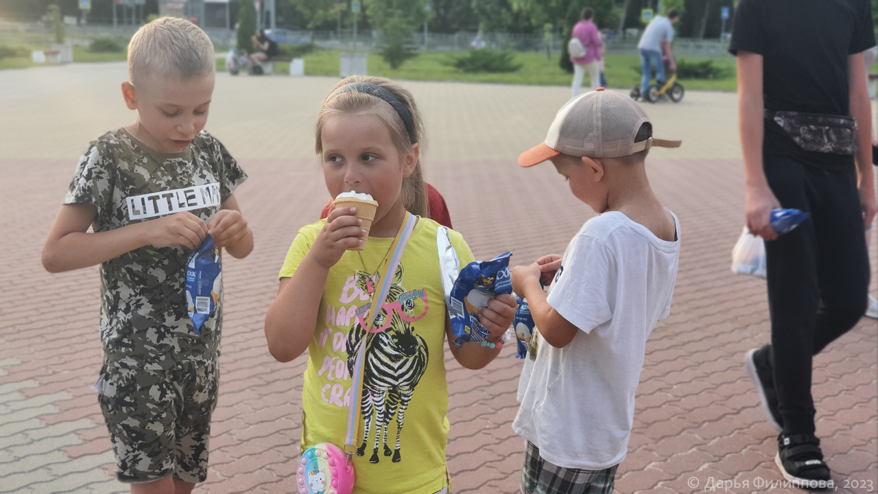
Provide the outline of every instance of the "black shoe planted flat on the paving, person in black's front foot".
<path id="1" fill-rule="evenodd" d="M 781 434 L 777 446 L 774 462 L 789 483 L 802 489 L 832 489 L 832 476 L 814 434 Z"/>

